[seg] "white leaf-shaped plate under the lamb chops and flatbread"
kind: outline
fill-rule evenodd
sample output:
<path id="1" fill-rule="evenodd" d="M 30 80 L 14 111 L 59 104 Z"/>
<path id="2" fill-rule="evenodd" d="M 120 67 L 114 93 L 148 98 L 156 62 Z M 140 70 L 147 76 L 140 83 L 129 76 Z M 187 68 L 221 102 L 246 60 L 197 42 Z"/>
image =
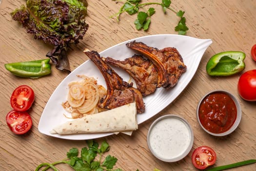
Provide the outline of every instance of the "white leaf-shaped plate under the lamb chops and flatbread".
<path id="1" fill-rule="evenodd" d="M 145 103 L 145 112 L 138 114 L 138 124 L 146 121 L 152 116 L 156 115 L 162 109 L 172 103 L 182 90 L 189 84 L 193 76 L 195 75 L 198 65 L 202 59 L 202 56 L 207 47 L 212 43 L 211 39 L 197 39 L 189 36 L 181 35 L 151 35 L 139 37 L 133 40 L 129 40 L 123 43 L 119 43 L 113 47 L 110 47 L 102 52 L 102 57 L 112 57 L 114 59 L 124 60 L 131 57 L 136 52 L 126 47 L 126 43 L 131 41 L 138 41 L 146 43 L 148 46 L 157 47 L 162 49 L 164 47 L 176 47 L 183 58 L 184 64 L 187 66 L 187 71 L 182 74 L 178 83 L 171 89 L 158 88 L 154 94 L 146 96 L 143 100 Z M 114 67 L 113 67 L 114 68 Z M 131 77 L 123 70 L 114 68 L 114 70 L 123 78 L 124 81 L 131 80 Z M 97 66 L 90 60 L 84 62 L 74 71 L 72 71 L 55 89 L 49 101 L 47 102 L 40 121 L 39 131 L 43 134 L 54 136 L 63 139 L 71 140 L 87 140 L 95 139 L 111 135 L 113 133 L 85 133 L 85 134 L 72 134 L 72 135 L 59 135 L 51 134 L 50 131 L 59 124 L 65 123 L 71 119 L 64 117 L 63 114 L 70 116 L 61 106 L 62 102 L 67 99 L 68 84 L 70 82 L 79 81 L 77 75 L 86 75 L 94 77 L 98 80 L 99 85 L 106 87 L 105 80 L 98 70 Z M 135 84 L 134 84 L 135 85 Z"/>

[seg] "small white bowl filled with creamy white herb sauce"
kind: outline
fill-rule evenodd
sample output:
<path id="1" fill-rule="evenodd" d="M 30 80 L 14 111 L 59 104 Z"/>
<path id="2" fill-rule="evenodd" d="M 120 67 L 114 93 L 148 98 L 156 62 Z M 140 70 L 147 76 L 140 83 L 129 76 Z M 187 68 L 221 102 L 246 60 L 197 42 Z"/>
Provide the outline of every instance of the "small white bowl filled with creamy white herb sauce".
<path id="1" fill-rule="evenodd" d="M 194 134 L 186 120 L 177 115 L 164 115 L 148 130 L 148 147 L 159 160 L 176 162 L 192 149 Z"/>

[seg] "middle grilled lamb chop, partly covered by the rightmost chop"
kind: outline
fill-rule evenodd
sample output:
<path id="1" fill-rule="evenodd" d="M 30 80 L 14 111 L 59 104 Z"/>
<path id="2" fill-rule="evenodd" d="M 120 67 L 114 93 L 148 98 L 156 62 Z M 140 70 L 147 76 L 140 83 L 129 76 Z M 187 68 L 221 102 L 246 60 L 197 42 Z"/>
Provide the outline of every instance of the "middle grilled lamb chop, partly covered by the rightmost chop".
<path id="1" fill-rule="evenodd" d="M 155 92 L 158 85 L 158 70 L 156 66 L 141 55 L 134 55 L 124 61 L 107 57 L 103 58 L 107 64 L 120 67 L 130 74 L 136 82 L 137 89 L 142 96 Z"/>

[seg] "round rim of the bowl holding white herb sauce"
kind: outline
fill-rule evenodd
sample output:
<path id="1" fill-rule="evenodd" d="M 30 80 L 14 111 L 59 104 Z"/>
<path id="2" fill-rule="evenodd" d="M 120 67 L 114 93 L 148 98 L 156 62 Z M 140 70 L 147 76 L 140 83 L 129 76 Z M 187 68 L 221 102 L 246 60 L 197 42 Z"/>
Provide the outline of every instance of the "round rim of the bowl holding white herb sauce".
<path id="1" fill-rule="evenodd" d="M 188 128 L 188 131 L 189 131 L 189 134 L 190 134 L 190 143 L 189 143 L 189 146 L 188 148 L 183 152 L 181 153 L 179 156 L 177 157 L 174 157 L 174 158 L 161 158 L 159 157 L 156 152 L 152 149 L 151 145 L 150 145 L 150 133 L 151 133 L 151 130 L 152 128 L 154 128 L 154 126 L 161 120 L 163 119 L 166 119 L 166 118 L 176 118 L 178 120 L 180 120 L 181 122 L 184 123 L 184 125 L 186 125 L 186 127 Z M 150 128 L 148 129 L 148 134 L 147 134 L 147 144 L 148 144 L 148 148 L 149 150 L 151 151 L 151 153 L 157 157 L 159 160 L 161 161 L 164 161 L 164 162 L 177 162 L 181 159 L 183 159 L 184 157 L 186 157 L 188 155 L 188 153 L 191 151 L 192 147 L 193 147 L 193 144 L 194 144 L 194 133 L 193 133 L 193 130 L 190 126 L 190 124 L 182 117 L 178 116 L 178 115 L 175 115 L 175 114 L 166 114 L 166 115 L 163 115 L 163 116 L 160 116 L 158 117 L 158 119 L 156 119 L 150 126 Z"/>

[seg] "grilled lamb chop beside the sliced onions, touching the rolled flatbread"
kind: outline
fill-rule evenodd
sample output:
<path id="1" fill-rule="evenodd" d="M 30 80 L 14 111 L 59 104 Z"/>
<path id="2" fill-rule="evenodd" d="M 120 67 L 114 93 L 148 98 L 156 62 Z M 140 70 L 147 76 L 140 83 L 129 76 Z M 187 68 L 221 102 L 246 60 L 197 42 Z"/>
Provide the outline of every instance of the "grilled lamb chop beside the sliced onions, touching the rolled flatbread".
<path id="1" fill-rule="evenodd" d="M 140 91 L 129 84 L 108 65 L 99 56 L 96 51 L 84 51 L 84 53 L 94 62 L 103 75 L 107 85 L 107 95 L 102 98 L 99 107 L 113 109 L 132 102 L 136 102 L 137 112 L 142 113 L 145 110 L 143 97 Z"/>

